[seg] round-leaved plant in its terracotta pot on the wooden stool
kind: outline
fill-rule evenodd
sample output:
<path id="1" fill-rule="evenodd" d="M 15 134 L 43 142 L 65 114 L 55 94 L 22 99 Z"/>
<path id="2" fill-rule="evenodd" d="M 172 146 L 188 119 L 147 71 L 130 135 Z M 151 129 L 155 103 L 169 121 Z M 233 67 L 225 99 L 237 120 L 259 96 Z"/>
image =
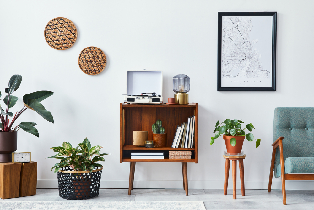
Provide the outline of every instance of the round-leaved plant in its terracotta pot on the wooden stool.
<path id="1" fill-rule="evenodd" d="M 245 129 L 248 131 L 252 131 L 254 126 L 252 123 L 247 124 L 244 129 L 241 128 L 241 124 L 244 123 L 242 120 L 225 120 L 222 122 L 224 125 L 221 125 L 219 123 L 219 120 L 217 121 L 215 125 L 215 134 L 214 137 L 210 138 L 210 144 L 212 145 L 219 136 L 223 136 L 223 139 L 225 139 L 225 144 L 227 147 L 227 152 L 230 153 L 241 153 L 242 150 L 242 145 L 243 141 L 246 138 L 248 141 L 253 141 L 254 140 L 254 135 L 253 133 L 245 133 Z M 255 139 L 256 143 L 255 146 L 256 148 L 260 145 L 261 139 Z"/>

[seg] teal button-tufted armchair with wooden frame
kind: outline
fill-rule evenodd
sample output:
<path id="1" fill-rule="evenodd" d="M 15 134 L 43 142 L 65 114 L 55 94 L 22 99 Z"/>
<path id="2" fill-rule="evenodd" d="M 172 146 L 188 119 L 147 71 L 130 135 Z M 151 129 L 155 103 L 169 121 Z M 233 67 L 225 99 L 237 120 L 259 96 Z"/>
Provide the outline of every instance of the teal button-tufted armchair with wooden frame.
<path id="1" fill-rule="evenodd" d="M 268 192 L 273 174 L 275 178 L 281 176 L 283 202 L 286 205 L 285 180 L 314 180 L 314 174 L 308 174 L 314 173 L 314 108 L 276 108 L 272 146 Z"/>

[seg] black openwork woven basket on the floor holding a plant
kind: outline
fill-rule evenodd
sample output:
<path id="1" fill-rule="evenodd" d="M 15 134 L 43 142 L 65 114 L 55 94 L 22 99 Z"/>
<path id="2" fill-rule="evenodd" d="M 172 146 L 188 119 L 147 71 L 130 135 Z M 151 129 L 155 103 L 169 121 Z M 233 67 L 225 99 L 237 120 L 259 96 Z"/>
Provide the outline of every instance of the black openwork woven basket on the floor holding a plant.
<path id="1" fill-rule="evenodd" d="M 82 200 L 98 196 L 101 172 L 102 167 L 95 167 L 91 173 L 77 173 L 71 167 L 62 167 L 57 172 L 59 196 L 68 200 Z"/>

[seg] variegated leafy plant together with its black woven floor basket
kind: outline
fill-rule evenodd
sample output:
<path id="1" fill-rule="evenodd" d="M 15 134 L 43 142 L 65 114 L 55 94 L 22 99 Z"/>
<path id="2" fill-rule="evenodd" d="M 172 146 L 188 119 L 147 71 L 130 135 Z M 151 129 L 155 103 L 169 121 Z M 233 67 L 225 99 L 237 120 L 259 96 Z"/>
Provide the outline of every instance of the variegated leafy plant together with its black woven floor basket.
<path id="1" fill-rule="evenodd" d="M 57 154 L 48 158 L 60 159 L 60 162 L 51 168 L 55 168 L 54 173 L 57 172 L 58 175 L 60 197 L 81 200 L 98 196 L 103 166 L 96 162 L 105 161 L 101 156 L 108 155 L 100 154 L 101 148 L 103 147 L 91 147 L 87 138 L 76 148 L 69 142 L 63 142 L 62 147 L 51 148 Z"/>

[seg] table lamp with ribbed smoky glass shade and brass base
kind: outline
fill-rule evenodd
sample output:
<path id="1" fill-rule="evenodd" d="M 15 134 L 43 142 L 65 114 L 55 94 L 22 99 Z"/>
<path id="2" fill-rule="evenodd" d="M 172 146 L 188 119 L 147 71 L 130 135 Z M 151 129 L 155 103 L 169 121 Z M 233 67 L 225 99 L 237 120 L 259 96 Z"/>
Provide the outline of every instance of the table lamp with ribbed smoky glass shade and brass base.
<path id="1" fill-rule="evenodd" d="M 185 74 L 177 74 L 172 79 L 172 90 L 176 92 L 175 103 L 189 104 L 190 77 Z"/>

